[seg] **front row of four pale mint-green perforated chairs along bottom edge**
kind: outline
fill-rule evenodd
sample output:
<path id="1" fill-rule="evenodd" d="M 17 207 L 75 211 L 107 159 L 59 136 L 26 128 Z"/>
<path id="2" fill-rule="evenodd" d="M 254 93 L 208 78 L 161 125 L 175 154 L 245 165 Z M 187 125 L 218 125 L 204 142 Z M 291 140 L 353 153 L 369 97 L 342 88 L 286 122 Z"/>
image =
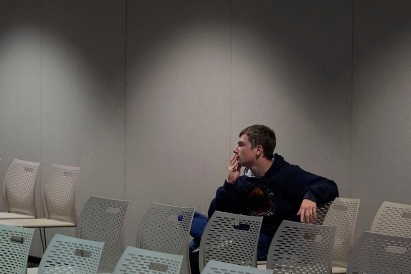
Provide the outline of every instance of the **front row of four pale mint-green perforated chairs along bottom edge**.
<path id="1" fill-rule="evenodd" d="M 103 252 L 103 242 L 89 241 L 55 234 L 38 268 L 27 268 L 26 260 L 34 229 L 0 225 L 0 273 L 46 274 L 98 272 Z M 179 274 L 182 255 L 173 255 L 136 247 L 127 247 L 122 253 L 114 274 L 153 273 Z M 229 263 L 210 261 L 202 271 L 211 273 L 259 273 L 269 274 L 272 270 L 251 269 Z"/>

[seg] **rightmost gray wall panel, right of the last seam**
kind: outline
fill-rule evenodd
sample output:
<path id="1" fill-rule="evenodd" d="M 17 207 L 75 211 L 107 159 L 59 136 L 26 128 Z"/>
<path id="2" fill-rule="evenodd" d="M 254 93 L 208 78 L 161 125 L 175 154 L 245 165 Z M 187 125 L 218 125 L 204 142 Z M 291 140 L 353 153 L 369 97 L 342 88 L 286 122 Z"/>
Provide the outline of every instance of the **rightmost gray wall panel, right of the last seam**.
<path id="1" fill-rule="evenodd" d="M 384 200 L 411 204 L 411 6 L 354 2 L 352 196 L 357 231 Z"/>

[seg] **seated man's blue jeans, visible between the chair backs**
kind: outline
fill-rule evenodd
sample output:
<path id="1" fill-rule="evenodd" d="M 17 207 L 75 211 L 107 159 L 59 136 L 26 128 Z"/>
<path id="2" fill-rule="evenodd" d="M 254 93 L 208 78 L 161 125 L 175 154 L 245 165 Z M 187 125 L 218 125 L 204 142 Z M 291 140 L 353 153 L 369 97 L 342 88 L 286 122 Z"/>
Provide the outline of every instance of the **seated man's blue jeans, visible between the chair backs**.
<path id="1" fill-rule="evenodd" d="M 194 240 L 190 243 L 190 257 L 192 255 L 193 250 L 200 246 L 201 236 L 204 232 L 204 229 L 206 229 L 208 222 L 209 218 L 206 215 L 201 214 L 198 211 L 194 212 L 193 222 L 191 224 L 190 229 L 190 235 L 194 238 Z M 267 253 L 268 249 L 270 248 L 272 239 L 272 237 L 260 233 L 257 247 L 258 261 L 267 261 Z"/>

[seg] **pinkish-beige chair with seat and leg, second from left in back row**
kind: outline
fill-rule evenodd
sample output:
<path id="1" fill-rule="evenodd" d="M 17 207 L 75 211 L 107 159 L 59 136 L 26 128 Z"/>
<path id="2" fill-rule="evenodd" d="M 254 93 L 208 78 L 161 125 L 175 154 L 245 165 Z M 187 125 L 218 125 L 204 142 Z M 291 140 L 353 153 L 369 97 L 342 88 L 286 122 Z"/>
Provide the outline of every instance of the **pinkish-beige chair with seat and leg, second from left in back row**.
<path id="1" fill-rule="evenodd" d="M 47 227 L 76 226 L 76 184 L 80 167 L 53 164 L 42 184 L 41 195 L 44 218 L 1 220 L 1 224 L 40 228 L 43 251 L 46 249 Z"/>

